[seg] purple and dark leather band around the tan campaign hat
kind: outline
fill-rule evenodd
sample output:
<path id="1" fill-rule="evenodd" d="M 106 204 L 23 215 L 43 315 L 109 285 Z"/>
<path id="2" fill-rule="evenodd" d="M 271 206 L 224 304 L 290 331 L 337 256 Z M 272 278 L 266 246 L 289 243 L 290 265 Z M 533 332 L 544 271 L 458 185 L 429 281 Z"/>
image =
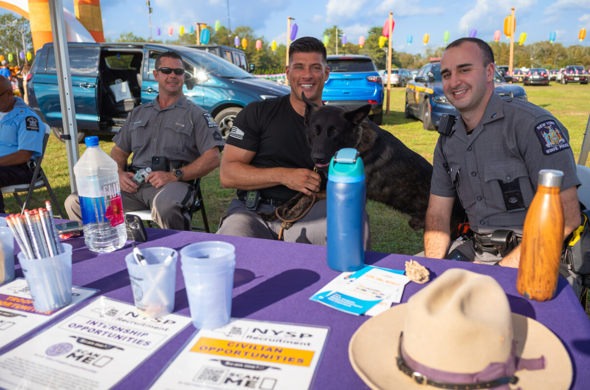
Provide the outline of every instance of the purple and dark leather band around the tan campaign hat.
<path id="1" fill-rule="evenodd" d="M 483 371 L 471 374 L 441 371 L 430 368 L 414 361 L 404 350 L 404 333 L 399 334 L 398 369 L 408 375 L 418 385 L 430 385 L 443 389 L 471 390 L 471 389 L 496 389 L 510 390 L 509 384 L 516 384 L 518 377 L 514 372 L 520 369 L 537 370 L 545 368 L 545 357 L 536 359 L 523 359 L 516 356 L 516 340 L 512 341 L 510 356 L 503 363 L 490 363 Z"/>

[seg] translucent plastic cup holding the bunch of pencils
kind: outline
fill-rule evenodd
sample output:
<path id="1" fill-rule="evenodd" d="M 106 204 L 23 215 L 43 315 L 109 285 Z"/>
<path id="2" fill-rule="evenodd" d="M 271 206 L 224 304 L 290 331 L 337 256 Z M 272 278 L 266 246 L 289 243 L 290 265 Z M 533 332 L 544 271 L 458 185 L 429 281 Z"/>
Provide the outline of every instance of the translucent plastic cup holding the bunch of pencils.
<path id="1" fill-rule="evenodd" d="M 27 259 L 18 253 L 18 262 L 27 279 L 35 310 L 61 309 L 72 300 L 72 246 L 60 243 L 61 252 L 53 257 Z"/>

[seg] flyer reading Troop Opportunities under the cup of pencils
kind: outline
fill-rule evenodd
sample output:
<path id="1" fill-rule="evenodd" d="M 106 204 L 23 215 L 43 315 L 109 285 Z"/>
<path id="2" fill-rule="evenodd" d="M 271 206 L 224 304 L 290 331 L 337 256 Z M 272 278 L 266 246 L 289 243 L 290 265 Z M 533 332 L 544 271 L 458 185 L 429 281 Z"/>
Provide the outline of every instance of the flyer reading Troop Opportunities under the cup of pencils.
<path id="1" fill-rule="evenodd" d="M 35 310 L 24 277 L 0 286 L 0 350 L 65 310 L 93 296 L 98 290 L 72 286 L 72 302 L 51 312 Z"/>

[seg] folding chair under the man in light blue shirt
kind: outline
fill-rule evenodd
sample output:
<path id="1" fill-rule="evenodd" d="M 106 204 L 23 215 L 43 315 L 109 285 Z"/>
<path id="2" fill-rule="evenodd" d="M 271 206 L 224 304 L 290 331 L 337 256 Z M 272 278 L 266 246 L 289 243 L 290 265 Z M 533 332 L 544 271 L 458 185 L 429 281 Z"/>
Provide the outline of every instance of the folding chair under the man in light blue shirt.
<path id="1" fill-rule="evenodd" d="M 47 176 L 45 176 L 45 172 L 43 171 L 43 168 L 41 168 L 41 161 L 43 160 L 43 157 L 45 156 L 45 148 L 47 147 L 47 140 L 49 139 L 49 136 L 51 134 L 51 127 L 49 127 L 49 125 L 47 125 L 45 123 L 44 123 L 44 125 L 45 125 L 45 135 L 43 137 L 43 148 L 41 149 L 41 156 L 32 158 L 30 160 L 30 163 L 34 164 L 34 166 L 35 166 L 35 170 L 33 171 L 33 177 L 32 177 L 31 183 L 29 183 L 29 184 L 14 184 L 12 186 L 2 187 L 0 189 L 0 191 L 2 191 L 2 194 L 14 195 L 14 199 L 17 200 L 18 205 L 21 206 L 21 213 L 22 213 L 25 209 L 28 208 L 28 204 L 29 204 L 29 201 L 31 200 L 31 196 L 33 194 L 33 191 L 45 187 L 47 189 L 47 192 L 51 196 L 51 200 L 53 201 L 53 204 L 51 204 L 51 206 L 53 207 L 54 211 L 57 211 L 57 213 L 54 212 L 54 215 L 58 216 L 60 218 L 63 218 L 63 216 L 65 214 L 61 211 L 60 203 L 57 201 L 57 198 L 55 197 L 55 194 L 53 193 L 53 190 L 51 189 L 51 186 L 49 185 L 49 181 L 47 180 Z M 18 193 L 23 193 L 23 192 L 27 193 L 27 197 L 25 198 L 24 202 L 21 200 L 21 197 L 18 196 Z"/>

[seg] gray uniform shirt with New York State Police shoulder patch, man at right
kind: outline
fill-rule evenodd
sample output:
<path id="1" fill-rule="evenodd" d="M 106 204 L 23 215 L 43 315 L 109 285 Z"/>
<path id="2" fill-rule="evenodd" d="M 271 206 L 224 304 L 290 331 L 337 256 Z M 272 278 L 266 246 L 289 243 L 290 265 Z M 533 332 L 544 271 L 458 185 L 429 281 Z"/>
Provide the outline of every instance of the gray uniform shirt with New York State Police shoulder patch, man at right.
<path id="1" fill-rule="evenodd" d="M 566 128 L 549 111 L 496 93 L 471 134 L 459 117 L 451 134 L 440 138 L 433 165 L 431 194 L 458 195 L 471 229 L 480 234 L 522 234 L 539 170 L 563 171 L 562 189 L 580 184 Z M 519 187 L 524 207 L 507 211 L 518 196 L 509 193 L 505 201 L 503 187 L 504 193 Z"/>

